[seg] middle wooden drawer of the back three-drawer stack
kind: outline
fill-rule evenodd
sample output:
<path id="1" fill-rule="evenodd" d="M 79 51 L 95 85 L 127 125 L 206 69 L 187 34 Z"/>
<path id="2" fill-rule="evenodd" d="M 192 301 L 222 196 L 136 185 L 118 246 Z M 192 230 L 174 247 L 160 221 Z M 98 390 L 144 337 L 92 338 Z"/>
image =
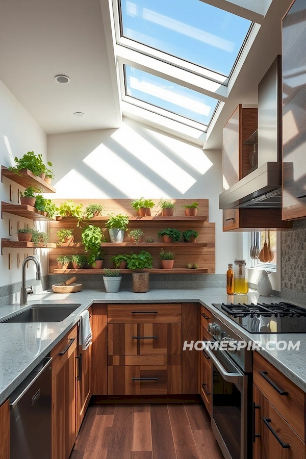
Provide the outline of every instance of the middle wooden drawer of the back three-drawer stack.
<path id="1" fill-rule="evenodd" d="M 108 325 L 108 355 L 181 353 L 181 323 L 110 323 Z"/>

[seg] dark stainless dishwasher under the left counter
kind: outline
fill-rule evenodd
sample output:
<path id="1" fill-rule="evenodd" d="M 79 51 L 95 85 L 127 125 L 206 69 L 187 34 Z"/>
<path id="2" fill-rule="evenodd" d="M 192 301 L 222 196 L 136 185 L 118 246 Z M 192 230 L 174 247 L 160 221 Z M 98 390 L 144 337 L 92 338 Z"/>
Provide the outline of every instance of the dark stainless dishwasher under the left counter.
<path id="1" fill-rule="evenodd" d="M 51 459 L 51 358 L 10 396 L 10 459 Z"/>

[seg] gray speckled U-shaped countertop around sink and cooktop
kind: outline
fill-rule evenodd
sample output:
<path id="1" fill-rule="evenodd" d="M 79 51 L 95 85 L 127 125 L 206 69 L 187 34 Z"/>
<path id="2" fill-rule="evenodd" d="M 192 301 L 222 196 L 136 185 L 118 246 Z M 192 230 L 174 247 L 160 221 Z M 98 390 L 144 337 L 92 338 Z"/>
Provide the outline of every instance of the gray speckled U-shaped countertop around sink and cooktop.
<path id="1" fill-rule="evenodd" d="M 237 297 L 235 301 L 241 301 Z M 243 301 L 281 301 L 279 297 L 259 297 L 257 292 L 250 292 Z M 105 293 L 98 290 L 83 290 L 73 294 L 55 294 L 45 291 L 31 297 L 27 307 L 7 305 L 0 309 L 0 320 L 5 320 L 31 307 L 32 304 L 47 303 L 80 303 L 63 322 L 52 323 L 0 323 L 0 404 L 5 401 L 20 382 L 28 376 L 35 366 L 78 322 L 82 311 L 92 303 L 142 303 L 142 302 L 200 302 L 211 310 L 219 319 L 229 325 L 245 340 L 256 341 L 262 346 L 267 341 L 300 340 L 299 350 L 278 351 L 262 348 L 260 352 L 275 367 L 281 370 L 298 387 L 306 392 L 306 333 L 305 334 L 249 334 L 239 325 L 216 310 L 212 303 L 231 302 L 233 296 L 227 296 L 223 288 L 210 287 L 205 289 L 169 289 L 151 290 L 148 293 Z"/>

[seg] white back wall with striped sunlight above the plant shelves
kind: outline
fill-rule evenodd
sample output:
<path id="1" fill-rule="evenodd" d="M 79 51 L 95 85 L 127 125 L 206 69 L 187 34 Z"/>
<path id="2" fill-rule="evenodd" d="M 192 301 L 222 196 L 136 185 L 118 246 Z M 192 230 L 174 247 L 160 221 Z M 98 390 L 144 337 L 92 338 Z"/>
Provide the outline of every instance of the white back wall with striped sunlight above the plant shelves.
<path id="1" fill-rule="evenodd" d="M 48 136 L 56 198 L 208 198 L 216 222 L 216 273 L 238 256 L 238 234 L 222 233 L 221 151 L 200 148 L 125 119 L 118 130 Z"/>

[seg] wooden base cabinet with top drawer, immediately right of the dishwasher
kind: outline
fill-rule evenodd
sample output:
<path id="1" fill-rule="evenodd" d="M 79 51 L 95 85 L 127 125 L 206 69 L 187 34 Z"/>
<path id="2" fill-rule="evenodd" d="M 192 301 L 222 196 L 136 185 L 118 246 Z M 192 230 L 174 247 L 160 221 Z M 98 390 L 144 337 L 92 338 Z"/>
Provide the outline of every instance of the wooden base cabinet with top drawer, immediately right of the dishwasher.
<path id="1" fill-rule="evenodd" d="M 52 457 L 68 459 L 76 433 L 75 357 L 77 326 L 51 351 L 52 361 Z"/>

